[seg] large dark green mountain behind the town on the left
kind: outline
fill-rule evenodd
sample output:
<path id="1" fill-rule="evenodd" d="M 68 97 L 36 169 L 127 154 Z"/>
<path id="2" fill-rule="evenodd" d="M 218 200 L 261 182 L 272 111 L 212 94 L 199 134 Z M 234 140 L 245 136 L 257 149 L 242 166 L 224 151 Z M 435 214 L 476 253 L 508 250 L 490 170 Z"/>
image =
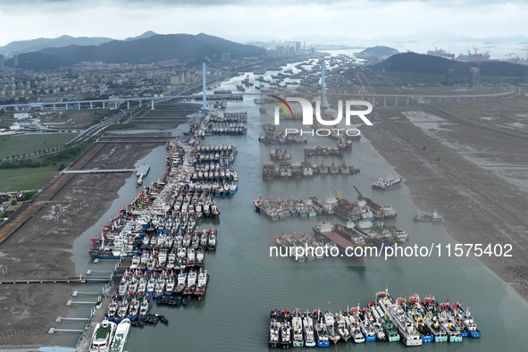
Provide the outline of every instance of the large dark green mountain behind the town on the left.
<path id="1" fill-rule="evenodd" d="M 58 69 L 82 61 L 103 63 L 158 63 L 178 59 L 180 62 L 196 60 L 220 60 L 222 53 L 230 53 L 231 59 L 266 54 L 263 48 L 245 46 L 203 33 L 156 34 L 149 38 L 130 41 L 113 40 L 99 46 L 48 47 L 36 53 L 20 54 L 19 66 L 23 69 Z M 13 67 L 13 58 L 6 63 Z"/>

